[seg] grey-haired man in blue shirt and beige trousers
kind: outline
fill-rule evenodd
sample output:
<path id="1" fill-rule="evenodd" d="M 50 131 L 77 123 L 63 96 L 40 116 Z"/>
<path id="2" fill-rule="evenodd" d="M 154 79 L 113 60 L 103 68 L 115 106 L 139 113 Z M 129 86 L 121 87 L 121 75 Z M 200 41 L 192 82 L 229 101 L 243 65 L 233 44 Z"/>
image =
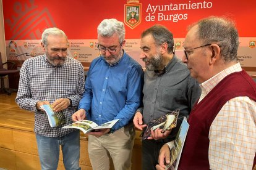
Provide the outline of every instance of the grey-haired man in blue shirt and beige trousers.
<path id="1" fill-rule="evenodd" d="M 103 124 L 119 119 L 111 129 L 90 132 L 88 153 L 93 169 L 109 169 L 109 155 L 114 169 L 130 169 L 135 129 L 132 117 L 140 105 L 143 86 L 142 67 L 123 50 L 124 23 L 103 20 L 98 26 L 101 56 L 92 61 L 85 92 L 74 121 L 90 119 Z"/>

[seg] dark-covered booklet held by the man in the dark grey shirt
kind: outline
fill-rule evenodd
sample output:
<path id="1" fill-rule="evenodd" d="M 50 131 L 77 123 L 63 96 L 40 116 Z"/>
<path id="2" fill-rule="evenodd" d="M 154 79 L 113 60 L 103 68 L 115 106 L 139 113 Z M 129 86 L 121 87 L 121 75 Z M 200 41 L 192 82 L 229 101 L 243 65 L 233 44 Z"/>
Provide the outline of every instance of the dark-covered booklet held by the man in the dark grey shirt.
<path id="1" fill-rule="evenodd" d="M 174 127 L 176 127 L 178 116 L 179 110 L 174 110 L 170 113 L 167 113 L 164 116 L 161 116 L 158 119 L 150 121 L 147 124 L 147 127 L 143 129 L 142 134 L 140 135 L 142 137 L 142 140 L 145 140 L 148 137 L 150 137 L 151 129 L 155 130 L 156 128 L 160 127 L 160 129 L 163 129 L 162 132 L 173 129 Z"/>

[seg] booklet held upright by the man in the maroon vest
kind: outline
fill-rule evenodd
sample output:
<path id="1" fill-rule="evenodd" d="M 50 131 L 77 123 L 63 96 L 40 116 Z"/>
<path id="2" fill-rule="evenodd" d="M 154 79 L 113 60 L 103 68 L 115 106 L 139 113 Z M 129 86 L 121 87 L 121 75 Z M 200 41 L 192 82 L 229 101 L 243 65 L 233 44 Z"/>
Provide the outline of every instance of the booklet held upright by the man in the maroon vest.
<path id="1" fill-rule="evenodd" d="M 173 147 L 170 148 L 170 163 L 166 165 L 166 170 L 176 170 L 179 165 L 179 160 L 181 158 L 182 149 L 186 140 L 187 131 L 189 130 L 189 123 L 187 123 L 186 117 L 184 117 L 181 127 L 177 132 L 177 136 L 174 140 Z"/>

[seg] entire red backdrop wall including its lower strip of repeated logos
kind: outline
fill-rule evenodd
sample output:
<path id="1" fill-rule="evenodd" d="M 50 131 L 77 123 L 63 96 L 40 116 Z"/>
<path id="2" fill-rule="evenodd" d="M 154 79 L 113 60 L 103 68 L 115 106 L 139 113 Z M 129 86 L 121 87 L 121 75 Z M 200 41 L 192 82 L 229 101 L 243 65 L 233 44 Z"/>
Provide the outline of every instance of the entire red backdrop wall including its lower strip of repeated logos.
<path id="1" fill-rule="evenodd" d="M 7 60 L 22 63 L 43 54 L 40 39 L 45 28 L 56 26 L 69 38 L 70 57 L 90 63 L 99 52 L 96 28 L 105 18 L 126 25 L 125 50 L 139 63 L 140 33 L 156 23 L 174 34 L 176 54 L 182 57 L 187 26 L 210 15 L 226 16 L 237 23 L 239 60 L 243 67 L 256 67 L 256 1 L 220 0 L 2 0 Z"/>

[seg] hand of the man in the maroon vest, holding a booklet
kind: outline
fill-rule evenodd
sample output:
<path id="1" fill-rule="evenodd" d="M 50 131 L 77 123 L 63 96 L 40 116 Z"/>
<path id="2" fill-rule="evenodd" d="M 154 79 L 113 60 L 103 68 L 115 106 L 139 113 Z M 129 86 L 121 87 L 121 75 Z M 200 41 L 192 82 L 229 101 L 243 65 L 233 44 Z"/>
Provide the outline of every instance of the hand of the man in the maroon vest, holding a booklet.
<path id="1" fill-rule="evenodd" d="M 166 168 L 166 164 L 170 163 L 170 148 L 169 145 L 164 144 L 163 147 L 160 150 L 159 156 L 158 156 L 158 163 L 156 165 L 156 169 L 162 170 Z"/>

